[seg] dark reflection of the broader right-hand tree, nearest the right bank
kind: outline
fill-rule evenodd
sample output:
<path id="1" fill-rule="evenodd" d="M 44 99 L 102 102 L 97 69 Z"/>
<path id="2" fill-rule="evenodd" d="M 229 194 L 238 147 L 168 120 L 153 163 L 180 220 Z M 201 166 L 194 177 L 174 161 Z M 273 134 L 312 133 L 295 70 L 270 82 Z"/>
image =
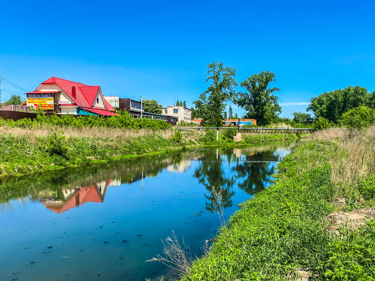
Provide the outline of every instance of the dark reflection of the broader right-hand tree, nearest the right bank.
<path id="1" fill-rule="evenodd" d="M 237 172 L 239 178 L 245 178 L 244 182 L 238 184 L 239 188 L 250 195 L 263 190 L 269 176 L 275 173 L 275 168 L 270 167 L 270 161 L 278 161 L 278 158 L 273 149 L 270 149 L 246 155 L 243 163 L 237 160 L 237 165 L 232 170 Z"/>

